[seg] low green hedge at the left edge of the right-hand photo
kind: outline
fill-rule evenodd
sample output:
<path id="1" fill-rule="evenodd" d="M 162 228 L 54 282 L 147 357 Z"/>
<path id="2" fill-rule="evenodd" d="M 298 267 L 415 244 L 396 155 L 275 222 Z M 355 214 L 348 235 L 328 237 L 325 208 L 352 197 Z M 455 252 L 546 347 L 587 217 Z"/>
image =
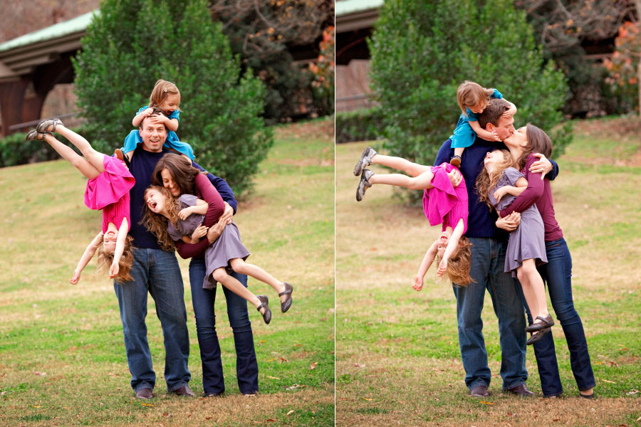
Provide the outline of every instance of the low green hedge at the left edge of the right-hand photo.
<path id="1" fill-rule="evenodd" d="M 337 112 L 336 143 L 369 141 L 382 135 L 383 113 L 380 107 L 363 108 L 350 112 Z"/>

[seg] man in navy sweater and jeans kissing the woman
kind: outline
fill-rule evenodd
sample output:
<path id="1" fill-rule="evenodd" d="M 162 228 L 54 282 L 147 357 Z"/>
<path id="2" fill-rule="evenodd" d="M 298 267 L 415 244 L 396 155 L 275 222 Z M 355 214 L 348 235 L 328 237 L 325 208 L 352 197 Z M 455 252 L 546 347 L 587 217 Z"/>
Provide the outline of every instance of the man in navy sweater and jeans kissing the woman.
<path id="1" fill-rule="evenodd" d="M 503 117 L 506 105 L 504 100 L 492 99 L 479 117 L 481 127 L 490 132 L 496 131 L 501 140 L 514 133 L 514 117 Z M 448 139 L 439 149 L 434 164 L 449 162 L 454 154 L 454 149 L 450 146 L 451 141 Z M 509 216 L 497 222 L 496 212 L 490 211 L 486 204 L 481 203 L 474 191 L 474 182 L 483 170 L 486 153 L 496 148 L 506 149 L 502 142 L 490 142 L 477 136 L 474 144 L 465 149 L 459 168 L 467 183 L 469 196 L 468 229 L 465 236 L 473 245 L 470 275 L 474 279 L 467 287 L 454 285 L 453 288 L 457 298 L 459 347 L 466 372 L 465 384 L 471 396 L 489 396 L 487 389 L 491 372 L 481 332 L 481 310 L 487 290 L 499 319 L 503 389 L 521 396 L 532 396 L 533 393 L 526 387 L 526 321 L 521 289 L 509 273 L 504 273 L 508 239 L 506 231 L 518 227 L 520 217 Z M 545 157 L 533 164 L 533 168 L 535 167 L 537 171 L 548 172 L 546 176 L 549 179 L 554 179 L 558 174 L 556 163 Z"/>

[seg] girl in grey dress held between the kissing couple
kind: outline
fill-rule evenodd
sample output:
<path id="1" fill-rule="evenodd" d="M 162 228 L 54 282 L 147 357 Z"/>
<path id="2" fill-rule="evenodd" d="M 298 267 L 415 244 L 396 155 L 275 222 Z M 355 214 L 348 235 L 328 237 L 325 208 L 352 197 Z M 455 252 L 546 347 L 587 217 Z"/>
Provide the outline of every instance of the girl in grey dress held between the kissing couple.
<path id="1" fill-rule="evenodd" d="M 523 174 L 511 164 L 507 150 L 495 149 L 486 154 L 485 169 L 476 179 L 476 190 L 479 199 L 485 201 L 490 209 L 501 211 L 528 186 Z M 505 272 L 518 278 L 533 317 L 541 320 L 526 328 L 526 331 L 533 332 L 528 344 L 537 342 L 554 325 L 548 312 L 543 279 L 536 270 L 536 265 L 548 262 L 544 232 L 541 214 L 536 205 L 532 205 L 521 213 L 520 225 L 510 233 L 505 255 Z"/>

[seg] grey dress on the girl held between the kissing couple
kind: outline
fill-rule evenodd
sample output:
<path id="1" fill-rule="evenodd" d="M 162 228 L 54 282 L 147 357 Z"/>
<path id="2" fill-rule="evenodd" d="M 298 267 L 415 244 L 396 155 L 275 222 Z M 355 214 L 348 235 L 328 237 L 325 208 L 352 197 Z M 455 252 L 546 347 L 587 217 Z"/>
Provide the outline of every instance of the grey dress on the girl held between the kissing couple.
<path id="1" fill-rule="evenodd" d="M 494 191 L 500 189 L 502 186 L 514 186 L 516 181 L 521 177 L 524 177 L 523 174 L 514 169 L 514 167 L 505 169 L 503 176 L 501 176 L 499 182 L 496 183 L 496 187 L 491 189 L 489 194 L 490 203 L 496 211 L 505 209 L 516 197 L 511 194 L 506 194 L 501 198 L 497 206 L 496 199 L 494 199 Z M 510 233 L 510 241 L 505 253 L 505 272 L 512 273 L 512 277 L 516 278 L 516 268 L 523 265 L 523 260 L 536 260 L 536 265 L 547 263 L 548 257 L 546 255 L 546 242 L 544 237 L 545 228 L 543 227 L 543 219 L 538 212 L 536 204 L 533 204 L 521 212 L 521 225 Z"/>

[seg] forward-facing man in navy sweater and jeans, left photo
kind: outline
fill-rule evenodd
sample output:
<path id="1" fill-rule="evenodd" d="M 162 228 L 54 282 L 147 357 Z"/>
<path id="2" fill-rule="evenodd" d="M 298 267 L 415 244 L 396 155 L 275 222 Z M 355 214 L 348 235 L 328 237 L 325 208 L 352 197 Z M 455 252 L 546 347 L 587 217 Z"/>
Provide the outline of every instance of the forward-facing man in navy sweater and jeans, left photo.
<path id="1" fill-rule="evenodd" d="M 114 281 L 114 290 L 118 297 L 120 320 L 123 322 L 127 364 L 131 372 L 131 386 L 138 399 L 150 399 L 155 386 L 156 375 L 152 368 L 152 358 L 147 342 L 147 292 L 152 295 L 156 304 L 156 315 L 160 319 L 162 334 L 165 339 L 165 381 L 167 391 L 179 396 L 194 396 L 189 388 L 191 374 L 187 367 L 189 358 L 189 336 L 187 332 L 187 312 L 184 306 L 182 275 L 174 251 L 163 251 L 157 238 L 140 224 L 142 207 L 145 203 L 143 194 L 152 184 L 154 168 L 166 152 L 162 146 L 167 139 L 167 128 L 162 123 L 154 123 L 148 117 L 140 124 L 142 144 L 135 149 L 129 164 L 130 172 L 136 183 L 130 190 L 131 229 L 133 238 L 134 264 L 132 280 L 126 283 Z M 173 155 L 173 154 L 172 154 Z M 197 166 L 194 164 L 194 166 Z M 201 168 L 202 169 L 202 168 Z M 209 179 L 216 187 L 222 199 L 236 211 L 236 199 L 224 179 L 209 174 Z M 213 231 L 211 228 L 210 231 Z M 209 236 L 208 236 L 209 237 Z M 246 276 L 240 278 L 246 283 Z M 246 306 L 245 306 L 246 307 Z M 246 308 L 245 308 L 246 310 Z M 249 337 L 251 337 L 251 330 Z M 258 389 L 258 369 L 254 342 L 251 339 L 253 363 L 251 384 Z M 237 343 L 236 343 L 237 344 Z M 236 345 L 238 347 L 238 345 Z M 254 372 L 255 371 L 255 372 Z M 248 374 L 249 375 L 249 374 Z"/>

